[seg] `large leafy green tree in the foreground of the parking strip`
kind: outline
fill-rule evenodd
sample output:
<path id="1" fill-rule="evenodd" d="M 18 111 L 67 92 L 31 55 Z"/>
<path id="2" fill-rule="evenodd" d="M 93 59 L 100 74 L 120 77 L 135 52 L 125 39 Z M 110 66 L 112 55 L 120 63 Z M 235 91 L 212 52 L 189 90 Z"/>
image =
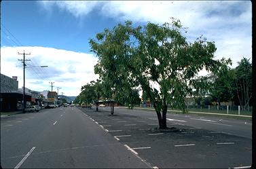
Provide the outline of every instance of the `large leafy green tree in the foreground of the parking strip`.
<path id="1" fill-rule="evenodd" d="M 90 39 L 98 56 L 96 71 L 116 92 L 141 88 L 150 98 L 161 129 L 166 129 L 168 104 L 185 112 L 187 94 L 209 88 L 198 72 L 217 71 L 225 60 L 213 60 L 215 44 L 199 37 L 189 43 L 179 20 L 132 27 L 131 21 L 105 29 Z"/>

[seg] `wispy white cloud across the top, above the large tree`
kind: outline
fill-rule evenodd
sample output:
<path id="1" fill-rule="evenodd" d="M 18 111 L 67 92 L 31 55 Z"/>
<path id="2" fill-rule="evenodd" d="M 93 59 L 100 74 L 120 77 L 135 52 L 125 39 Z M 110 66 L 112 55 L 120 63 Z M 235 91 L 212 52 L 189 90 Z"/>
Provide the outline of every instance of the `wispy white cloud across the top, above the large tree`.
<path id="1" fill-rule="evenodd" d="M 119 22 L 163 24 L 177 18 L 188 27 L 188 41 L 200 35 L 215 41 L 216 57 L 230 57 L 232 67 L 243 56 L 252 57 L 251 1 L 56 1 L 56 5 L 75 17 L 100 9 L 103 17 Z"/>

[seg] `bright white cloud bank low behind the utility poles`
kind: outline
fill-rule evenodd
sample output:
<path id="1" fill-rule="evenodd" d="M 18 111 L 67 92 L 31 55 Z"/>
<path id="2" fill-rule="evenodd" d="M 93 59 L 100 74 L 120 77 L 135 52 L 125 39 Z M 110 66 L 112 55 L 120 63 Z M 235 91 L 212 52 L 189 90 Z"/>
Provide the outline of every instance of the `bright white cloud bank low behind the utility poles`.
<path id="1" fill-rule="evenodd" d="M 31 90 L 51 90 L 50 81 L 54 81 L 54 91 L 60 87 L 59 92 L 66 96 L 77 96 L 81 86 L 98 78 L 94 75 L 94 64 L 97 58 L 92 54 L 58 50 L 44 47 L 3 47 L 1 48 L 1 73 L 8 77 L 18 76 L 18 86 L 23 86 L 23 69 L 18 52 L 31 52 L 26 56 L 26 84 Z M 48 65 L 48 68 L 32 66 Z M 18 67 L 17 67 L 18 66 Z M 31 67 L 31 68 L 29 68 Z"/>

